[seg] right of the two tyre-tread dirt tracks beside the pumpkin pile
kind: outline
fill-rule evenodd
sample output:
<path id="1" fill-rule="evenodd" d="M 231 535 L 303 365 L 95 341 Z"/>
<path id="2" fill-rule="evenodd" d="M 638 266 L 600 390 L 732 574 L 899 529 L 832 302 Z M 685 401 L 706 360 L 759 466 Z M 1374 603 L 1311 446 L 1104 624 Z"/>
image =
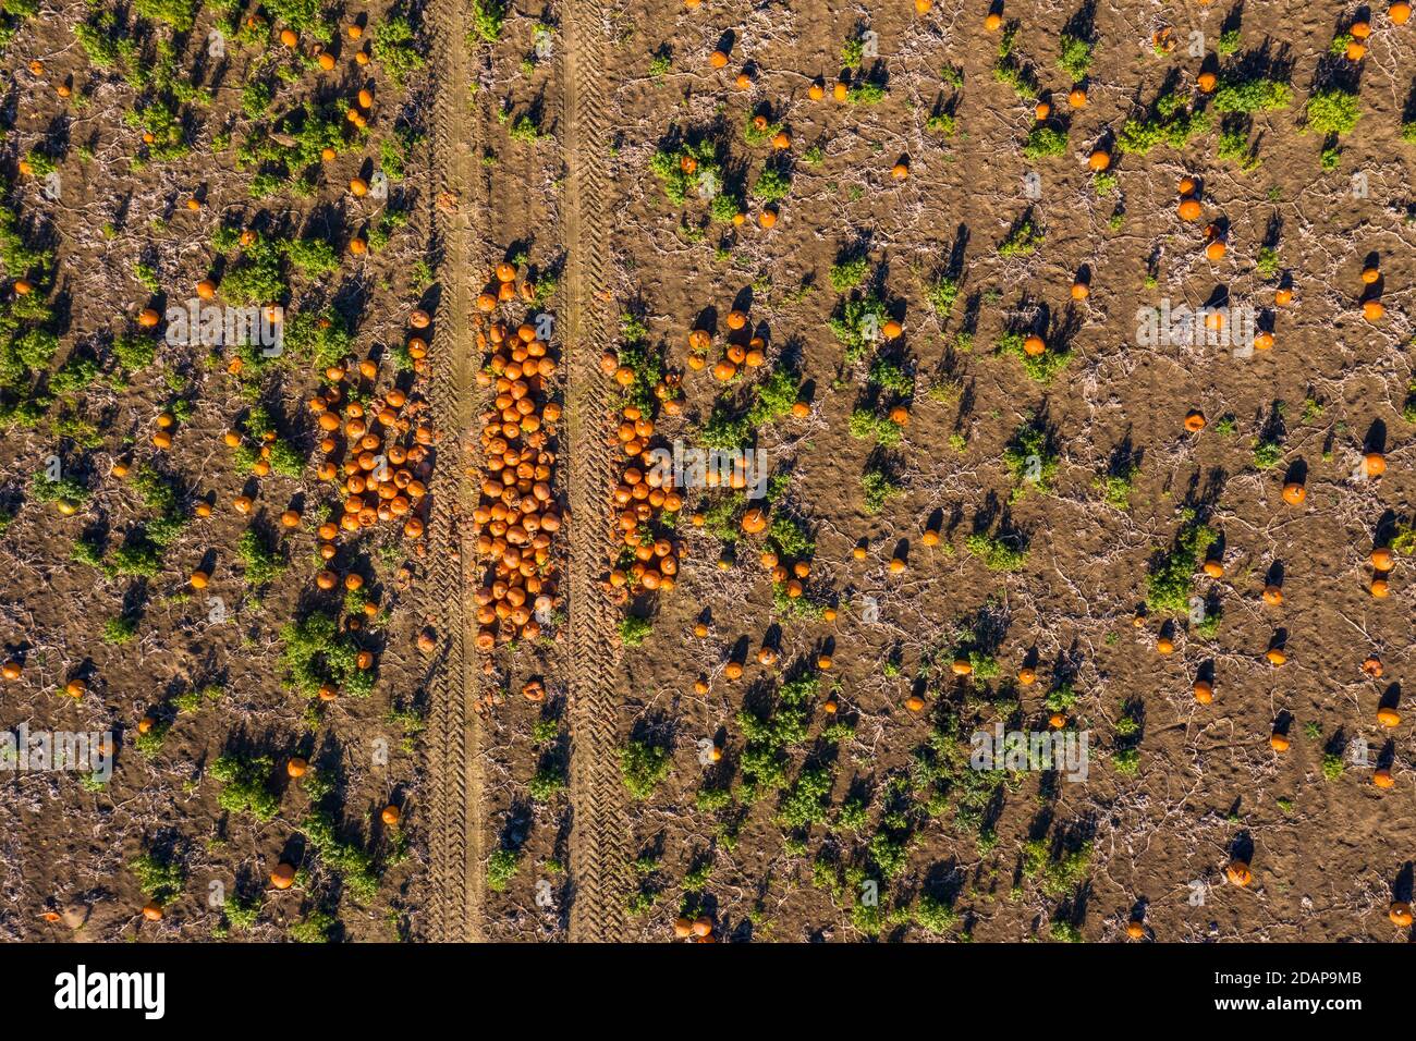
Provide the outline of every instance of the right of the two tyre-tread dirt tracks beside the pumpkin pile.
<path id="1" fill-rule="evenodd" d="M 606 491 L 613 457 L 610 392 L 599 371 L 612 336 L 613 309 L 603 295 L 610 186 L 605 173 L 609 123 L 603 69 L 606 13 L 596 0 L 565 8 L 562 54 L 566 193 L 561 232 L 566 248 L 564 343 L 571 494 L 571 612 L 565 676 L 571 714 L 571 939 L 624 939 L 624 870 L 629 836 L 619 776 L 615 669 L 616 613 L 596 576 L 603 568 L 610 520 Z"/>

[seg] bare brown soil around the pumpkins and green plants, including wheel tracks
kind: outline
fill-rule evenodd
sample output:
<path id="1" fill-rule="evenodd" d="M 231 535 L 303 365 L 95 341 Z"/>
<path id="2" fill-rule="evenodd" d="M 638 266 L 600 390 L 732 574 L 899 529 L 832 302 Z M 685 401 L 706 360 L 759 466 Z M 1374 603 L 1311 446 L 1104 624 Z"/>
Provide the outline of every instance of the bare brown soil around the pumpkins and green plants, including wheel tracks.
<path id="1" fill-rule="evenodd" d="M 426 398 L 438 439 L 425 554 L 396 533 L 341 542 L 341 574 L 365 574 L 388 612 L 368 633 L 374 693 L 310 714 L 286 683 L 279 635 L 312 605 L 338 608 L 313 585 L 314 524 L 283 534 L 287 571 L 249 589 L 234 564 L 248 520 L 229 503 L 253 489 L 263 530 L 275 531 L 289 503 L 313 517 L 337 499 L 314 480 L 313 457 L 299 479 L 259 482 L 232 463 L 221 433 L 252 399 L 227 375 L 227 357 L 212 364 L 164 347 L 126 387 L 99 380 L 37 426 L 10 428 L 0 446 L 14 514 L 0 540 L 10 574 L 0 639 L 24 674 L 3 688 L 0 724 L 113 729 L 120 752 L 101 790 L 72 773 L 0 780 L 0 935 L 207 939 L 229 918 L 208 901 L 212 881 L 261 892 L 290 860 L 303 868 L 296 887 L 268 891 L 253 925 L 232 938 L 313 929 L 354 940 L 658 942 L 675 919 L 704 916 L 724 940 L 1124 940 L 1133 918 L 1158 940 L 1398 939 L 1388 906 L 1410 899 L 1412 728 L 1381 727 L 1376 710 L 1410 715 L 1402 686 L 1416 664 L 1409 538 L 1399 538 L 1416 493 L 1406 467 L 1416 198 L 1413 146 L 1400 139 L 1403 120 L 1416 119 L 1416 25 L 1374 11 L 1357 64 L 1330 54 L 1352 21 L 1334 4 L 1078 7 L 1004 10 L 1018 25 L 1014 67 L 1051 101 L 1048 126 L 1065 133 L 1059 154 L 1029 159 L 1035 101 L 995 75 L 1003 31 L 983 27 L 978 4 L 920 14 L 835 0 L 566 0 L 514 8 L 489 42 L 474 35 L 484 7 L 432 0 L 415 13 L 428 67 L 405 85 L 379 62 L 360 71 L 341 54 L 333 84 L 310 74 L 280 86 L 276 108 L 306 96 L 343 105 L 372 76 L 378 103 L 368 143 L 327 164 L 310 197 L 275 201 L 252 200 L 252 171 L 211 146 L 225 125 L 241 140 L 242 85 L 259 50 L 205 74 L 214 98 L 194 130 L 197 152 L 130 169 L 140 144 L 122 119 L 133 89 L 96 72 L 74 42 L 85 8 L 24 20 L 3 58 L 17 88 L 0 167 L 34 232 L 27 241 L 57 252 L 42 290 L 62 316 L 48 371 L 92 354 L 110 372 L 109 334 L 130 331 L 152 299 L 135 265 L 149 265 L 169 297 L 185 296 L 208 273 L 224 217 L 263 212 L 343 252 L 377 218 L 344 186 L 378 161 L 399 113 L 428 133 L 395 186 L 406 224 L 387 248 L 344 256 L 337 273 L 292 275 L 289 310 L 344 305 L 357 316 L 357 357 L 404 343 L 412 307 L 432 312 L 430 368 L 404 378 Z M 364 14 L 377 24 L 389 11 L 351 8 L 340 24 Z M 184 38 L 187 65 L 211 18 L 202 13 Z M 1167 25 L 1178 45 L 1158 55 L 1154 34 Z M 1229 28 L 1238 48 L 1221 54 Z M 850 78 L 857 99 L 834 101 L 843 44 L 865 30 L 878 57 Z M 1204 34 L 1204 59 L 1187 52 L 1192 31 Z M 1085 108 L 1068 103 L 1063 33 L 1096 42 Z M 722 69 L 709 64 L 715 48 L 729 55 Z M 31 59 L 42 72 L 28 71 Z M 1243 127 L 1257 166 L 1218 154 L 1223 119 L 1215 96 L 1194 86 L 1202 68 L 1218 68 L 1222 82 L 1263 71 L 1291 85 L 1286 105 Z M 745 89 L 733 82 L 741 71 Z M 817 78 L 821 101 L 809 98 Z M 86 106 L 57 96 L 64 81 Z M 871 84 L 884 88 L 877 103 L 861 99 Z M 1308 98 L 1332 85 L 1357 86 L 1361 119 L 1324 169 L 1323 136 L 1303 123 Z M 1121 150 L 1123 126 L 1154 116 L 1167 89 L 1182 110 L 1208 112 L 1211 126 L 1178 149 Z M 789 149 L 749 140 L 758 113 L 780 123 Z M 952 123 L 930 120 L 939 115 Z M 666 197 L 650 160 L 683 142 L 718 146 L 745 222 L 711 220 L 695 191 L 683 204 Z M 62 205 L 17 173 L 33 147 L 57 157 Z M 1096 147 L 1114 181 L 1087 170 Z M 892 176 L 899 163 L 906 178 Z M 767 169 L 790 188 L 763 228 L 766 203 L 752 188 Z M 1198 181 L 1198 222 L 1177 214 L 1182 177 Z M 204 205 L 188 211 L 194 191 Z M 1000 248 L 1025 218 L 1041 241 L 1008 255 Z M 1204 254 L 1209 224 L 1228 245 L 1218 261 Z M 833 286 L 833 266 L 851 256 L 865 259 L 861 278 Z M 551 389 L 565 404 L 555 445 L 564 602 L 542 639 L 483 657 L 472 644 L 469 598 L 484 568 L 469 476 L 490 395 L 476 381 L 474 302 L 491 266 L 513 258 L 537 279 L 559 279 L 545 313 L 559 365 Z M 418 276 L 419 261 L 432 279 Z M 1374 262 L 1382 278 L 1365 289 L 1361 271 Z M 21 272 L 6 276 L 11 299 Z M 944 276 L 957 299 L 936 307 L 930 289 Z M 1090 288 L 1083 300 L 1070 292 L 1079 278 Z M 1274 290 L 1290 282 L 1294 302 L 1276 306 Z M 1374 293 L 1385 306 L 1376 323 L 1361 313 Z M 902 333 L 851 357 L 833 319 L 871 295 Z M 1137 310 L 1161 300 L 1253 307 L 1273 347 L 1235 357 L 1146 346 Z M 731 309 L 748 313 L 766 364 L 724 385 L 711 371 Z M 514 305 L 503 317 L 534 312 Z M 620 552 L 610 494 L 623 467 L 622 401 L 600 354 L 627 355 L 636 324 L 646 351 L 681 377 L 681 409 L 657 412 L 656 445 L 702 443 L 715 408 L 741 414 L 770 372 L 799 382 L 809 415 L 763 421 L 748 436 L 776 477 L 769 517 L 810 538 L 787 562 L 810 562 L 801 603 L 816 610 L 775 595 L 759 564 L 766 537 L 742 534 L 724 489 L 685 490 L 671 534 L 677 586 L 616 605 L 607 578 Z M 715 337 L 697 371 L 688 333 L 700 327 Z M 1051 380 L 1031 378 L 1007 350 L 1022 331 L 1070 353 Z M 317 433 L 303 402 L 320 384 L 304 367 L 263 389 L 282 436 L 306 450 Z M 154 419 L 178 398 L 191 412 L 174 446 L 154 452 Z M 874 409 L 888 423 L 896 404 L 908 408 L 898 443 L 852 436 L 852 414 Z M 1191 409 L 1208 419 L 1198 433 L 1184 429 Z M 71 412 L 96 440 L 59 425 Z M 1041 489 L 1010 469 L 1029 426 L 1045 432 Z M 1381 477 L 1358 472 L 1365 452 L 1383 453 Z M 51 453 L 91 491 L 75 516 L 33 491 Z M 85 534 L 102 534 L 112 554 L 152 520 L 132 480 L 110 474 L 120 457 L 153 460 L 184 508 L 217 504 L 146 578 L 71 559 Z M 868 472 L 895 486 L 879 508 L 865 501 Z M 1306 486 L 1297 507 L 1280 497 L 1290 480 Z M 1181 568 L 1181 602 L 1198 596 L 1204 623 L 1146 606 L 1148 575 L 1191 523 L 1215 535 L 1204 555 L 1223 564 L 1218 578 L 1199 559 Z M 939 531 L 937 545 L 925 544 L 926 530 Z M 1025 558 L 990 568 L 978 535 Z M 1391 595 L 1378 599 L 1368 554 L 1392 544 Z M 212 592 L 234 615 L 221 626 L 184 592 L 212 552 Z M 899 574 L 893 558 L 906 561 Z M 1269 582 L 1281 585 L 1281 605 L 1264 603 Z M 139 619 L 133 642 L 103 640 L 118 616 Z M 651 623 L 641 643 L 622 642 L 626 618 Z M 694 636 L 698 623 L 707 636 Z M 425 629 L 432 653 L 418 649 Z M 1157 652 L 1163 637 L 1174 653 Z M 1281 667 L 1264 657 L 1276 643 Z M 776 650 L 770 664 L 758 663 L 763 644 Z M 953 660 L 970 652 L 973 674 L 956 676 Z M 1379 678 L 1364 673 L 1369 657 L 1381 659 Z M 741 678 L 728 678 L 729 663 L 743 663 Z M 1035 684 L 1020 683 L 1024 667 Z M 75 676 L 89 680 L 84 697 L 55 693 Z M 521 697 L 532 678 L 545 684 L 544 702 Z M 803 678 L 816 687 L 801 725 L 765 756 L 776 738 L 763 721 L 790 715 L 780 698 Z M 1212 681 L 1212 704 L 1197 702 L 1197 678 Z M 181 695 L 210 684 L 221 701 L 178 710 Z M 910 695 L 922 707 L 909 708 Z M 974 731 L 1045 731 L 1063 704 L 1065 727 L 1090 742 L 1083 783 L 969 768 Z M 147 753 L 135 746 L 144 715 L 171 722 Z M 1290 738 L 1284 753 L 1270 746 L 1276 731 Z M 371 765 L 379 739 L 391 753 Z M 1351 759 L 1354 739 L 1369 749 L 1365 766 Z M 705 761 L 708 748 L 721 761 Z M 272 758 L 279 806 L 269 821 L 218 803 L 211 763 L 231 749 Z M 661 749 L 667 765 L 636 778 L 624 769 L 630 749 Z M 312 796 L 287 782 L 279 765 L 296 753 L 316 773 L 337 773 L 336 790 Z M 767 763 L 776 783 L 765 780 Z M 1378 766 L 1392 789 L 1372 783 Z M 823 778 L 820 796 L 803 797 Z M 644 785 L 632 792 L 626 779 Z M 404 809 L 396 829 L 379 821 L 391 802 Z M 348 865 L 312 848 L 314 807 L 368 853 L 375 895 L 355 897 Z M 140 915 L 149 895 L 130 864 L 143 853 L 183 865 L 161 922 Z M 1235 858 L 1252 865 L 1247 887 L 1225 880 Z"/>

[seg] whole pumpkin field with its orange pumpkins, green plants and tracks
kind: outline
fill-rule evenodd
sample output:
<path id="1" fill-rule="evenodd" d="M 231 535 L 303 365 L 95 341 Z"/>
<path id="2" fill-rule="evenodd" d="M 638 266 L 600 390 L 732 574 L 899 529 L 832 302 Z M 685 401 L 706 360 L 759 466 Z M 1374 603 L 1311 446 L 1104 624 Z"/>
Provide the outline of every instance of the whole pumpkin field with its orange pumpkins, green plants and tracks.
<path id="1" fill-rule="evenodd" d="M 6 10 L 0 935 L 1409 939 L 1409 8 Z"/>

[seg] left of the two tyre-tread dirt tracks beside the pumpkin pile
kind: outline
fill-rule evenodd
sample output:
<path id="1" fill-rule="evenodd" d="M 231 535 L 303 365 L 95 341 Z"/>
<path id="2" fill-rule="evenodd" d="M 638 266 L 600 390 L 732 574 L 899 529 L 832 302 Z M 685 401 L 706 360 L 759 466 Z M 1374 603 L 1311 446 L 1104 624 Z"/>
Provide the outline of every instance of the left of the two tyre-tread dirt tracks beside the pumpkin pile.
<path id="1" fill-rule="evenodd" d="M 474 405 L 473 295 L 474 197 L 472 146 L 476 122 L 467 112 L 472 55 L 466 0 L 429 6 L 433 62 L 432 238 L 442 288 L 433 326 L 432 409 L 438 484 L 429 518 L 426 613 L 436 619 L 439 656 L 429 676 L 428 799 L 430 878 L 423 932 L 439 942 L 481 938 L 480 728 L 476 661 L 469 646 L 466 567 L 472 555 L 460 530 L 467 480 L 464 432 Z"/>

